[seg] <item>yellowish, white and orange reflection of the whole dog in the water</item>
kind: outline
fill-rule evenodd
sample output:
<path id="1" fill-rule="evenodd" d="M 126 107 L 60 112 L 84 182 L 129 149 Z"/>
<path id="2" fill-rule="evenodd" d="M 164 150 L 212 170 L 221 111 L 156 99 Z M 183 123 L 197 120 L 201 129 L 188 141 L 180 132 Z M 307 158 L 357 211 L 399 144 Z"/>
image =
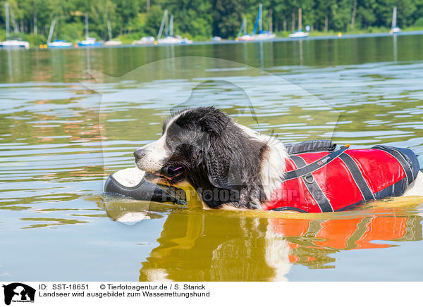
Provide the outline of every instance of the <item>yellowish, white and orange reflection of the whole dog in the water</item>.
<path id="1" fill-rule="evenodd" d="M 419 215 L 311 220 L 225 214 L 168 215 L 140 281 L 283 281 L 293 264 L 335 268 L 331 254 L 337 251 L 422 239 Z"/>

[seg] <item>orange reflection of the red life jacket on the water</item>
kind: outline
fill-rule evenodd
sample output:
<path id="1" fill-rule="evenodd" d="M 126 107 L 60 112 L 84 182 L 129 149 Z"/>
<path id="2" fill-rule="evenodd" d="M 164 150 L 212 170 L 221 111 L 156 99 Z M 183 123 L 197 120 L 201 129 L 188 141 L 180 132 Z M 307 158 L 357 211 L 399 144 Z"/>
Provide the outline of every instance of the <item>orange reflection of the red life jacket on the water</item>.
<path id="1" fill-rule="evenodd" d="M 422 240 L 422 219 L 419 215 L 337 220 L 273 218 L 270 224 L 274 232 L 286 237 L 290 263 L 301 263 L 309 268 L 334 268 L 328 263 L 335 262 L 329 255 L 336 251 L 385 249 L 398 242 Z"/>

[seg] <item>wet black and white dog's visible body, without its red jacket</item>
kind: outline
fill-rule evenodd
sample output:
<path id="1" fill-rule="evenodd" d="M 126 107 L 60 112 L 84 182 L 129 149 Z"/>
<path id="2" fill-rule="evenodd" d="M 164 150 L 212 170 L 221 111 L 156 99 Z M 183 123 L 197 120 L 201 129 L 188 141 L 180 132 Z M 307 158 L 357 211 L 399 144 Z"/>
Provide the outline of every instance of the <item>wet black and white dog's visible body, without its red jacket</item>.
<path id="1" fill-rule="evenodd" d="M 283 180 L 282 142 L 238 125 L 214 107 L 186 109 L 164 121 L 163 134 L 134 152 L 147 180 L 189 184 L 205 208 L 261 209 Z M 404 194 L 423 196 L 423 174 Z"/>

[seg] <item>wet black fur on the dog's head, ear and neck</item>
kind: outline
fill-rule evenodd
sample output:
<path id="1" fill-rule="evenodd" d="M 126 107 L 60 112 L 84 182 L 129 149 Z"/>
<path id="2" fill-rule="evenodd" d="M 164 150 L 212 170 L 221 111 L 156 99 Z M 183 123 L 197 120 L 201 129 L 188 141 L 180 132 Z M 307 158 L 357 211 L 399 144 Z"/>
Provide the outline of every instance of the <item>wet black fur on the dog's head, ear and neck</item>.
<path id="1" fill-rule="evenodd" d="M 230 203 L 259 208 L 265 200 L 260 177 L 264 142 L 251 139 L 214 107 L 181 111 L 164 122 L 173 154 L 164 167 L 183 166 L 185 178 L 211 208 Z"/>

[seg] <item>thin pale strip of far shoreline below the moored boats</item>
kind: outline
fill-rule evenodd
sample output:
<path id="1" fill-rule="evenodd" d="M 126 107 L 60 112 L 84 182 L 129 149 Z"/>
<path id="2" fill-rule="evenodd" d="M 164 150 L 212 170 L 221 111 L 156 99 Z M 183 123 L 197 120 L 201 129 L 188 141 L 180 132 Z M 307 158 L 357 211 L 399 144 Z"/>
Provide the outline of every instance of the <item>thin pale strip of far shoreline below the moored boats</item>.
<path id="1" fill-rule="evenodd" d="M 321 35 L 303 38 L 290 38 L 290 37 L 276 37 L 274 39 L 265 39 L 257 41 L 238 41 L 235 39 L 222 40 L 219 42 L 214 41 L 200 41 L 192 42 L 192 44 L 121 44 L 117 46 L 71 46 L 67 48 L 47 48 L 42 50 L 63 50 L 63 49 L 104 49 L 104 48 L 127 48 L 127 47 L 163 47 L 163 46 L 200 46 L 200 45 L 220 45 L 220 44 L 254 44 L 254 43 L 270 43 L 270 42 L 296 42 L 296 41 L 307 41 L 307 40 L 323 40 L 323 39 L 352 39 L 352 38 L 367 38 L 367 37 L 399 37 L 399 36 L 410 36 L 410 35 L 423 35 L 423 30 L 417 31 L 403 31 L 396 34 L 389 32 L 378 32 L 378 33 L 360 33 L 360 34 L 345 34 L 345 35 Z M 38 47 L 31 47 L 30 49 L 11 49 L 11 48 L 0 48 L 0 50 L 32 50 L 39 49 Z"/>

